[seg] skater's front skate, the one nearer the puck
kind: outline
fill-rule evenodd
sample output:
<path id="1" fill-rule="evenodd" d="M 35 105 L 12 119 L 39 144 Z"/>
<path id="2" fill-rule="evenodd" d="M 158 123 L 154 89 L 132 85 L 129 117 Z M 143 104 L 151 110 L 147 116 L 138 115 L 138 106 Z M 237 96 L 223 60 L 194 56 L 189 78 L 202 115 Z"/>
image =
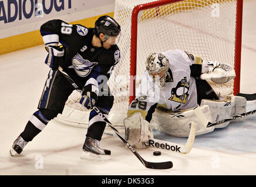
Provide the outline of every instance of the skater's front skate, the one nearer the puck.
<path id="1" fill-rule="evenodd" d="M 99 140 L 86 137 L 81 158 L 90 160 L 110 160 L 110 155 L 110 150 L 99 147 Z"/>

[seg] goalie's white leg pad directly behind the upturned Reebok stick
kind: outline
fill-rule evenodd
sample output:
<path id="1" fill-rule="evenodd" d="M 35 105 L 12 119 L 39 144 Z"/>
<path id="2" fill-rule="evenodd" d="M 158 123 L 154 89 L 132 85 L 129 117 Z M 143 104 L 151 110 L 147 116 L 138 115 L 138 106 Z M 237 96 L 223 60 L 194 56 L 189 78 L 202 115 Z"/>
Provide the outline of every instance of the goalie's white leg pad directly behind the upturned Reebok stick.
<path id="1" fill-rule="evenodd" d="M 212 122 L 209 106 L 198 106 L 203 111 L 206 118 Z M 196 116 L 193 109 L 182 110 L 180 112 L 163 112 L 156 110 L 153 113 L 151 125 L 154 129 L 159 130 L 165 134 L 176 137 L 188 137 L 190 133 L 191 121 L 196 124 L 196 136 L 200 134 L 210 133 L 215 127 L 206 127 Z"/>

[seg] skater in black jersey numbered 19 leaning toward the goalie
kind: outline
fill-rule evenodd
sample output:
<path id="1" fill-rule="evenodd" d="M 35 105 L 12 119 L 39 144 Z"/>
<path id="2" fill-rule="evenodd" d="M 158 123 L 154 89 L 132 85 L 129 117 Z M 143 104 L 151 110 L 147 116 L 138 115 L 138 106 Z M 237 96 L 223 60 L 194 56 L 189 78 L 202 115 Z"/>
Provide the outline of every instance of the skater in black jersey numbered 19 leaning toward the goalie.
<path id="1" fill-rule="evenodd" d="M 14 141 L 11 155 L 21 154 L 26 144 L 58 113 L 62 113 L 74 88 L 58 71 L 59 66 L 83 91 L 80 104 L 87 109 L 97 106 L 107 117 L 114 97 L 104 84 L 120 60 L 120 51 L 116 45 L 120 30 L 119 24 L 110 16 L 101 16 L 96 20 L 94 28 L 69 25 L 59 19 L 49 20 L 41 26 L 41 35 L 49 53 L 45 64 L 51 69 L 38 110 L 33 113 L 23 132 Z M 106 123 L 102 117 L 92 110 L 83 144 L 83 157 L 100 160 L 110 158 L 110 151 L 99 147 L 105 127 Z"/>

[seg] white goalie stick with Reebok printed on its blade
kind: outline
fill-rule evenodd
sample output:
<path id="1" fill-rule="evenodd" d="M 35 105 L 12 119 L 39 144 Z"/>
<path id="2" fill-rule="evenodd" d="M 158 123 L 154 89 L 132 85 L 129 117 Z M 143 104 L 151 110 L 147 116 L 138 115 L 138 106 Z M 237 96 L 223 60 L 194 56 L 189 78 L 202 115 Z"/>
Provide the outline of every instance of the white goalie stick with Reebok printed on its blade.
<path id="1" fill-rule="evenodd" d="M 105 134 L 107 136 L 117 137 L 116 134 L 109 132 L 109 131 L 104 132 L 103 134 Z M 188 154 L 188 153 L 190 153 L 191 148 L 193 147 L 195 137 L 196 137 L 196 124 L 194 122 L 192 122 L 190 133 L 188 135 L 188 139 L 187 139 L 187 142 L 185 145 L 176 144 L 176 143 L 173 143 L 170 141 L 164 141 L 164 140 L 158 140 L 156 138 L 152 138 L 149 140 L 149 144 L 146 144 L 146 146 L 159 148 L 161 150 L 173 151 L 173 152 L 181 153 L 181 154 Z"/>

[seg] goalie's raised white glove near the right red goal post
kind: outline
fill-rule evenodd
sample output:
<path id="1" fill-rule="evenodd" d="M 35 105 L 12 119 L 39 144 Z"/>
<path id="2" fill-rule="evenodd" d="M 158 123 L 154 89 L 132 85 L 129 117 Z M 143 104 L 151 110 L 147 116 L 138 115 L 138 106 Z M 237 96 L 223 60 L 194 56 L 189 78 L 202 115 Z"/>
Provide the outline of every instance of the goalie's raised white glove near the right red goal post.
<path id="1" fill-rule="evenodd" d="M 225 83 L 235 78 L 235 70 L 228 64 L 203 60 L 201 79 L 211 79 L 215 83 Z"/>

